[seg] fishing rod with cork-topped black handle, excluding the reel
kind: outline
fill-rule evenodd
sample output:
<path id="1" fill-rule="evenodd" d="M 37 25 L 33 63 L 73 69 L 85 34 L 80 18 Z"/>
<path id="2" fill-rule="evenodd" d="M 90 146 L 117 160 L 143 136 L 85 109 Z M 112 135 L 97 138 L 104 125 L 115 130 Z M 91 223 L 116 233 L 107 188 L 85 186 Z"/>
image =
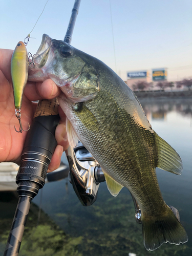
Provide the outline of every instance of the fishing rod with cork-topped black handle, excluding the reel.
<path id="1" fill-rule="evenodd" d="M 71 42 L 79 5 L 80 0 L 75 0 L 64 39 L 68 44 Z M 18 255 L 31 201 L 45 184 L 48 166 L 57 145 L 55 129 L 59 123 L 58 105 L 57 98 L 38 102 L 16 176 L 19 199 L 4 256 Z"/>

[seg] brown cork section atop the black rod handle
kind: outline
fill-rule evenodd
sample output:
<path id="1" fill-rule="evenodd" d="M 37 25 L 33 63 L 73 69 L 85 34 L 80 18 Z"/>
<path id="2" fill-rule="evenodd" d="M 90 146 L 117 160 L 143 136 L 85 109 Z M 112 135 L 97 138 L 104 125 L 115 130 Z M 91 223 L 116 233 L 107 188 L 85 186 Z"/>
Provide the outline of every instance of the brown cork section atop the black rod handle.
<path id="1" fill-rule="evenodd" d="M 57 98 L 39 100 L 34 118 L 37 116 L 58 115 L 59 102 Z"/>

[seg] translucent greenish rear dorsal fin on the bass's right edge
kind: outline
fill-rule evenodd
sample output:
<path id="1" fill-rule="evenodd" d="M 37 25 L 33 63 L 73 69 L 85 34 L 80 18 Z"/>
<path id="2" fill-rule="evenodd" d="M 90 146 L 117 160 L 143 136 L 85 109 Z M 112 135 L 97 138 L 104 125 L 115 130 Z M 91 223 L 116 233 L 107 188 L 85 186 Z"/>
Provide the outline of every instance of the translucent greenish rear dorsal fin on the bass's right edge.
<path id="1" fill-rule="evenodd" d="M 167 172 L 181 175 L 183 164 L 180 156 L 166 141 L 155 133 L 155 141 L 157 145 L 158 164 L 157 167 Z"/>

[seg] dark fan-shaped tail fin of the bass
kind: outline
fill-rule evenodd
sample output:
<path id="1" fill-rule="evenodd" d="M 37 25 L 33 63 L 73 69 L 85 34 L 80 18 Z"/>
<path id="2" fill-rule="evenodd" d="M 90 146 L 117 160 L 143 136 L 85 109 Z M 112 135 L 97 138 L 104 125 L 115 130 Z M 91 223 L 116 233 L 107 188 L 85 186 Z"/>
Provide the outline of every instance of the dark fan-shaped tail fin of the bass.
<path id="1" fill-rule="evenodd" d="M 166 206 L 165 213 L 149 218 L 142 214 L 143 243 L 147 250 L 155 250 L 163 243 L 177 244 L 188 241 L 187 233 L 173 211 Z"/>

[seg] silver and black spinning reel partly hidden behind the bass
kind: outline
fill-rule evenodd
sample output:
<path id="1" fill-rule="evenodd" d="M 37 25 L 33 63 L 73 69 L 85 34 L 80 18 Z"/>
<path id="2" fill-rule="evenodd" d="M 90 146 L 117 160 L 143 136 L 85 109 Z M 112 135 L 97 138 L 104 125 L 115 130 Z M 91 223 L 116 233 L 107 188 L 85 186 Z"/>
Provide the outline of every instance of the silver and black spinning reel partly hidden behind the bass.
<path id="1" fill-rule="evenodd" d="M 80 141 L 75 148 L 69 146 L 66 156 L 70 166 L 69 180 L 78 199 L 83 206 L 92 205 L 97 199 L 100 182 L 105 181 L 101 167 Z M 133 195 L 132 198 L 136 222 L 141 223 L 141 210 Z"/>

